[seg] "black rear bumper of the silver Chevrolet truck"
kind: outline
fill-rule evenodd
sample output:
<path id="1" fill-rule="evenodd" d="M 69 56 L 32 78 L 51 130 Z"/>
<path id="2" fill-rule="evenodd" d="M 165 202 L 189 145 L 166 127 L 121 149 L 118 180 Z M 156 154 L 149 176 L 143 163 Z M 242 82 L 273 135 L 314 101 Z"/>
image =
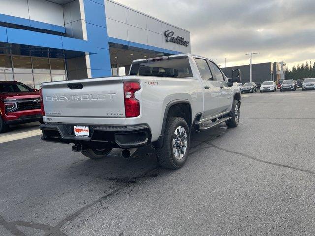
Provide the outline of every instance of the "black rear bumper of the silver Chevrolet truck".
<path id="1" fill-rule="evenodd" d="M 81 144 L 89 147 L 136 148 L 151 143 L 151 131 L 146 125 L 89 126 L 90 136 L 75 136 L 73 124 L 42 124 L 42 140 Z"/>

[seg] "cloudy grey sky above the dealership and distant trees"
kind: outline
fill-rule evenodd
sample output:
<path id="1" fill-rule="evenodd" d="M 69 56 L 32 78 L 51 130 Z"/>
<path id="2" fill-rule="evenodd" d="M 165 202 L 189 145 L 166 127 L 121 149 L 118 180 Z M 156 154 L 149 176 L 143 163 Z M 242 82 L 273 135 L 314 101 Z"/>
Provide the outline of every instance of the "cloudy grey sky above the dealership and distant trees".
<path id="1" fill-rule="evenodd" d="M 314 0 L 116 0 L 191 32 L 192 53 L 227 66 L 315 60 Z"/>

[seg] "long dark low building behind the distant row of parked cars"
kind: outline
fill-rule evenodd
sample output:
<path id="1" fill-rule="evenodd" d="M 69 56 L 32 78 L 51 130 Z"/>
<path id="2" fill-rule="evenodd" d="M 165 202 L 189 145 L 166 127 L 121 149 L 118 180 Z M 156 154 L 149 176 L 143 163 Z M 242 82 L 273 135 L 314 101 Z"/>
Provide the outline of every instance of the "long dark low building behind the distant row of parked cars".
<path id="1" fill-rule="evenodd" d="M 232 66 L 221 68 L 223 73 L 227 77 L 231 77 L 231 71 L 233 69 L 240 69 L 241 71 L 241 83 L 250 82 L 250 65 Z M 278 82 L 284 80 L 285 63 L 282 62 L 268 62 L 252 64 L 252 81 L 263 82 L 273 80 Z"/>

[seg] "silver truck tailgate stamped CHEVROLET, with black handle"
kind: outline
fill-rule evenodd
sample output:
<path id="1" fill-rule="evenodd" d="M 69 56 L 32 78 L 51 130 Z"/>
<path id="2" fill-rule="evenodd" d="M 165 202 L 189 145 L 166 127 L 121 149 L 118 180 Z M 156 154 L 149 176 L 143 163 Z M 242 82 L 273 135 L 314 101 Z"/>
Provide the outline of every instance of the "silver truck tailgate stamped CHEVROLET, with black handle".
<path id="1" fill-rule="evenodd" d="M 45 122 L 126 125 L 122 77 L 43 83 L 42 94 Z"/>

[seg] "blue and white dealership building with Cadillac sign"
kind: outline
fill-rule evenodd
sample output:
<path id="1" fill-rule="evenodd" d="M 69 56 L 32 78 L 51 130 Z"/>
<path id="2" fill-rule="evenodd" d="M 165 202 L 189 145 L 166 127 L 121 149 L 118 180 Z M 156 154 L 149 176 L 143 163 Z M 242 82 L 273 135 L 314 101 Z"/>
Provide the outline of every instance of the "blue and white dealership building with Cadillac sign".
<path id="1" fill-rule="evenodd" d="M 112 0 L 1 0 L 0 81 L 125 75 L 134 59 L 190 50 L 189 31 Z"/>

